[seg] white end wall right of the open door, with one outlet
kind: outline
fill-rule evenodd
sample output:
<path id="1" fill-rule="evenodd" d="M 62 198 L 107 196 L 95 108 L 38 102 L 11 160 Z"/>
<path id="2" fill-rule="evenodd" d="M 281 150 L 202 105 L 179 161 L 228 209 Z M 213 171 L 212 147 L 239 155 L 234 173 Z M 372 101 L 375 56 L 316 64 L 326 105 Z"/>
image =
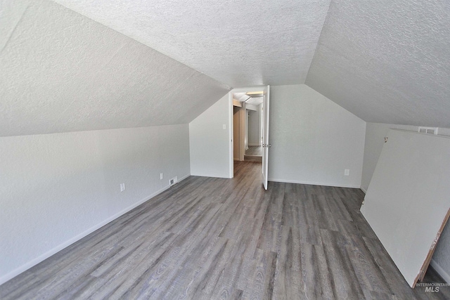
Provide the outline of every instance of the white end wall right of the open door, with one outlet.
<path id="1" fill-rule="evenodd" d="M 269 181 L 359 188 L 365 132 L 366 122 L 309 86 L 271 86 Z"/>

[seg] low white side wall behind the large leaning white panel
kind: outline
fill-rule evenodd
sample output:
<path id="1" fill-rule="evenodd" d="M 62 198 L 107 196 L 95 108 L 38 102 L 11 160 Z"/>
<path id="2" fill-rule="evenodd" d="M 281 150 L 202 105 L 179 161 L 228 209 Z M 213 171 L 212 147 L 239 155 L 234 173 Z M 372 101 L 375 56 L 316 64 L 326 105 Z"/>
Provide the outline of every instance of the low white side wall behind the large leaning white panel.
<path id="1" fill-rule="evenodd" d="M 361 189 L 366 191 L 375 171 L 378 158 L 383 149 L 384 137 L 390 128 L 418 131 L 418 126 L 367 123 L 366 143 L 364 146 L 364 167 L 361 180 Z M 439 134 L 450 136 L 450 129 L 439 128 Z M 450 282 L 450 223 L 444 228 L 437 243 L 435 254 L 432 257 L 432 266 L 439 274 Z"/>

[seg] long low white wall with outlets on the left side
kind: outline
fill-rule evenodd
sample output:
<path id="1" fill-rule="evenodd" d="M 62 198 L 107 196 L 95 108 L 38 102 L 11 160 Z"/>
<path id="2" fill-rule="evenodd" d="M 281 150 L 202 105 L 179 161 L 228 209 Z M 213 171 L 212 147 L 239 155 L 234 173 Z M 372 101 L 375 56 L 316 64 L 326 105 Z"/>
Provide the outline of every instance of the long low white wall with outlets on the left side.
<path id="1" fill-rule="evenodd" d="M 0 284 L 189 172 L 187 124 L 0 138 Z"/>

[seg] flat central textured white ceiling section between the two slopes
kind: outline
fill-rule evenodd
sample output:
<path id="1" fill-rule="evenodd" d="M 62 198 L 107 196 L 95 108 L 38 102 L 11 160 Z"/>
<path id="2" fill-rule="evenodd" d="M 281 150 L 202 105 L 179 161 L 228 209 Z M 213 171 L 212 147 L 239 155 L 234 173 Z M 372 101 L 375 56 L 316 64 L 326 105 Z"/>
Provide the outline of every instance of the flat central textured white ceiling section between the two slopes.
<path id="1" fill-rule="evenodd" d="M 303 84 L 330 0 L 56 0 L 233 87 Z"/>

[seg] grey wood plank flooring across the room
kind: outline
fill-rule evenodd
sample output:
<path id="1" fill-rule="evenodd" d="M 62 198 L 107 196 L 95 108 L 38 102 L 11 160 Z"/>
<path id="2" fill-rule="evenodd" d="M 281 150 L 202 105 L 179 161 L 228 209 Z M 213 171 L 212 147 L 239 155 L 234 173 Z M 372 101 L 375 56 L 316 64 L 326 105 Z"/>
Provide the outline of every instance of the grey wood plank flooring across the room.
<path id="1" fill-rule="evenodd" d="M 351 188 L 191 176 L 0 286 L 0 299 L 449 299 L 411 289 Z M 426 279 L 426 278 L 425 278 Z"/>

